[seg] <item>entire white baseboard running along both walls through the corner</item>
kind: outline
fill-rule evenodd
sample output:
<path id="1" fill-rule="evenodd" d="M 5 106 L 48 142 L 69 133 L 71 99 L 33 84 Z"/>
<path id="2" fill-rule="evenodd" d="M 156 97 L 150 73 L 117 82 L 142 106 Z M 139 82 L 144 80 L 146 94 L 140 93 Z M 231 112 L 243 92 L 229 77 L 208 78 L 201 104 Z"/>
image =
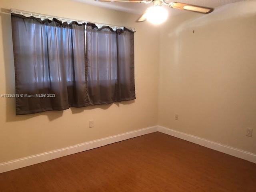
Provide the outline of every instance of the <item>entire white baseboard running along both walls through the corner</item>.
<path id="1" fill-rule="evenodd" d="M 217 151 L 220 151 L 220 152 L 223 152 L 223 153 L 256 163 L 256 154 L 252 154 L 250 152 L 232 148 L 230 146 L 226 146 L 226 145 L 223 145 L 220 143 L 212 142 L 212 141 L 209 141 L 209 140 L 206 140 L 206 139 L 203 139 L 200 137 L 196 137 L 196 136 L 193 136 L 190 134 L 178 132 L 176 130 L 172 130 L 172 129 L 169 129 L 169 128 L 166 128 L 163 126 L 152 126 L 152 127 L 135 130 L 135 131 L 131 131 L 131 132 L 126 132 L 123 134 L 118 134 L 115 136 L 110 136 L 110 137 L 106 137 L 106 138 L 102 138 L 102 139 L 98 139 L 98 140 L 94 140 L 94 141 L 90 141 L 90 142 L 85 142 L 82 144 L 70 146 L 67 148 L 62 148 L 59 150 L 54 150 L 54 151 L 45 152 L 42 154 L 28 156 L 25 158 L 20 158 L 17 160 L 12 160 L 9 162 L 4 162 L 4 163 L 0 164 L 0 173 L 11 171 L 11 170 L 22 168 L 22 167 L 26 167 L 26 166 L 30 166 L 30 165 L 34 165 L 34 164 L 38 164 L 38 163 L 56 159 L 59 157 L 63 157 L 63 156 L 75 154 L 78 152 L 90 150 L 93 148 L 105 146 L 108 144 L 112 144 L 112 143 L 119 142 L 122 140 L 142 136 L 142 135 L 153 133 L 156 131 L 159 131 L 164 134 L 168 134 L 168 135 L 171 135 L 171 136 L 174 136 L 174 137 L 177 137 L 177 138 L 180 138 L 180 139 L 192 142 L 192 143 L 199 144 L 201 146 L 204 146 L 204 147 L 207 147 L 210 149 L 214 149 L 214 150 L 217 150 Z"/>

